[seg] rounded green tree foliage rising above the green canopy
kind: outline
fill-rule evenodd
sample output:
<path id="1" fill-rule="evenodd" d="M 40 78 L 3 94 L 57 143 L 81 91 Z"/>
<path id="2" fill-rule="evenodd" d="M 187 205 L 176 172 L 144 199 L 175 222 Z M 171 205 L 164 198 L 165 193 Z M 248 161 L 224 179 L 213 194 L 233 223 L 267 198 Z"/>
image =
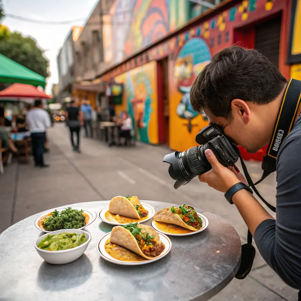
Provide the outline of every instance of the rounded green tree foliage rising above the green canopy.
<path id="1" fill-rule="evenodd" d="M 17 32 L 9 34 L 0 39 L 0 53 L 44 77 L 49 75 L 48 61 L 30 37 L 23 37 Z"/>

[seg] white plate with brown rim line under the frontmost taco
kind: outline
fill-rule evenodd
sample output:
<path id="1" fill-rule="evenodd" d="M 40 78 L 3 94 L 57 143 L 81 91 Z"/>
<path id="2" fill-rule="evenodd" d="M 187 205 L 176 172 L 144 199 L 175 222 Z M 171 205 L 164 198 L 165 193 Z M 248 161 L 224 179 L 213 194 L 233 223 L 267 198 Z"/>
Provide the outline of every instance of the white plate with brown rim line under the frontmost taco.
<path id="1" fill-rule="evenodd" d="M 110 236 L 111 236 L 111 232 L 109 232 L 109 233 L 105 234 L 103 237 L 101 237 L 101 239 L 98 241 L 98 244 L 96 246 L 97 251 L 103 259 L 105 259 L 109 262 L 119 264 L 119 265 L 142 265 L 142 264 L 151 263 L 151 262 L 154 262 L 154 261 L 157 261 L 157 260 L 163 258 L 165 255 L 167 255 L 169 253 L 169 251 L 171 249 L 170 239 L 165 234 L 159 233 L 160 240 L 163 242 L 163 244 L 165 244 L 165 249 L 160 254 L 159 257 L 157 257 L 155 259 L 145 259 L 145 260 L 142 260 L 142 261 L 122 261 L 122 260 L 118 260 L 118 259 L 113 258 L 104 249 L 104 244 L 110 238 Z"/>

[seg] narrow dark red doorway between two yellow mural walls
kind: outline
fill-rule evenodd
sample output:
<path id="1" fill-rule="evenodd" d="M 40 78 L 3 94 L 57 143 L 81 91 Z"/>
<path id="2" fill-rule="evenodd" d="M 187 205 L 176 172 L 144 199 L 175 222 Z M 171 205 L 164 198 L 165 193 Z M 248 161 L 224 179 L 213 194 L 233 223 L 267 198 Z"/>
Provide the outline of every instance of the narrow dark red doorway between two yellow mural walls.
<path id="1" fill-rule="evenodd" d="M 168 58 L 157 64 L 159 143 L 169 145 Z"/>

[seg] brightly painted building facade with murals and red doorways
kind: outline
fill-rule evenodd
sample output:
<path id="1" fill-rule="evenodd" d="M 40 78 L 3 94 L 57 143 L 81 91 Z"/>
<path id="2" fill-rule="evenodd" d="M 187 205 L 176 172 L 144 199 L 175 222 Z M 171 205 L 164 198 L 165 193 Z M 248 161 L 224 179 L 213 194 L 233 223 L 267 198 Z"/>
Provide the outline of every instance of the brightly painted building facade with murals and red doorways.
<path id="1" fill-rule="evenodd" d="M 126 5 L 133 3 L 123 1 Z M 123 1 L 113 4 L 111 9 L 116 14 Z M 185 26 L 188 15 L 175 17 L 185 12 L 181 9 L 181 5 L 187 5 L 184 1 L 135 1 L 141 4 L 134 9 L 137 15 L 131 15 L 137 27 L 124 29 L 122 42 L 114 36 L 121 35 L 118 30 L 110 31 L 112 41 L 105 45 L 104 56 L 113 67 L 100 79 L 124 84 L 123 101 L 116 111 L 129 111 L 139 140 L 184 151 L 196 145 L 196 134 L 208 124 L 206 116 L 192 109 L 189 92 L 196 76 L 217 51 L 234 43 L 258 49 L 286 78 L 290 77 L 287 58 L 291 9 L 293 2 L 299 5 L 300 1 L 224 1 Z M 299 20 L 295 27 L 300 26 Z M 108 28 L 104 30 L 109 32 Z M 112 47 L 113 41 L 120 45 Z M 295 69 L 301 71 L 300 66 Z"/>

